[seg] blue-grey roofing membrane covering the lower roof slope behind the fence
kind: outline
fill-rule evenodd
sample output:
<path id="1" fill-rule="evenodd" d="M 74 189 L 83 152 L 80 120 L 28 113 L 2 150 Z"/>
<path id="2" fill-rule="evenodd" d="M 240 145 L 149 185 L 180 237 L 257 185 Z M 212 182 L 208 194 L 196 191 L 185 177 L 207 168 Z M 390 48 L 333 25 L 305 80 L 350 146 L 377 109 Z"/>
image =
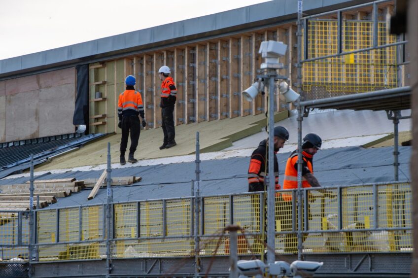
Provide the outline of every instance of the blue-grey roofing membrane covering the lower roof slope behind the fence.
<path id="1" fill-rule="evenodd" d="M 323 186 L 390 182 L 393 180 L 393 147 L 370 148 L 343 147 L 321 150 L 314 156 L 314 174 Z M 399 179 L 410 180 L 411 147 L 399 147 Z M 289 153 L 279 153 L 279 182 L 283 182 L 285 163 Z M 243 193 L 248 189 L 247 169 L 249 157 L 208 160 L 201 163 L 200 192 L 203 196 Z M 141 176 L 142 180 L 131 186 L 112 186 L 113 200 L 126 202 L 178 198 L 191 195 L 191 180 L 195 178 L 194 163 L 175 163 L 114 169 L 111 176 Z M 67 172 L 43 175 L 42 179 L 76 177 L 98 178 L 102 171 Z M 23 183 L 29 177 L 0 180 L 5 184 Z M 96 197 L 87 201 L 90 189 L 60 198 L 48 208 L 61 208 L 106 202 L 106 190 L 100 189 Z"/>

